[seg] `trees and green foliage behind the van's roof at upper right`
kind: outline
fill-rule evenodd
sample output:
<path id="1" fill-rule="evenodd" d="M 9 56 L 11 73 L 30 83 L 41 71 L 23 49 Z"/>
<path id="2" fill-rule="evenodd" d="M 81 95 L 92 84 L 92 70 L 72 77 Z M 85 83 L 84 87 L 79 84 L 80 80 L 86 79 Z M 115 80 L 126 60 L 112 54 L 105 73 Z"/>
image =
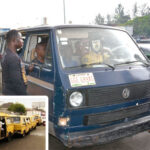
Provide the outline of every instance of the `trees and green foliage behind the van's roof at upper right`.
<path id="1" fill-rule="evenodd" d="M 131 11 L 126 11 L 122 4 L 118 4 L 113 15 L 107 14 L 107 16 L 103 16 L 99 13 L 95 17 L 94 23 L 99 25 L 133 26 L 134 36 L 150 37 L 150 7 L 148 4 L 138 6 L 135 3 Z"/>

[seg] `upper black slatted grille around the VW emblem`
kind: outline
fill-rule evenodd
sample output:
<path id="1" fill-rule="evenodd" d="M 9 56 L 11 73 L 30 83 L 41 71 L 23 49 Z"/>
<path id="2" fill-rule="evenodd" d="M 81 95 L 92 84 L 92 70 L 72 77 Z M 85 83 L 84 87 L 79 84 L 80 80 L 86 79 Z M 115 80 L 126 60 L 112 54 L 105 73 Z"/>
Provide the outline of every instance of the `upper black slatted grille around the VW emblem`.
<path id="1" fill-rule="evenodd" d="M 130 90 L 130 96 L 127 99 L 122 96 L 122 92 L 125 88 Z M 86 95 L 87 106 L 105 106 L 148 98 L 150 97 L 150 81 L 88 89 Z"/>

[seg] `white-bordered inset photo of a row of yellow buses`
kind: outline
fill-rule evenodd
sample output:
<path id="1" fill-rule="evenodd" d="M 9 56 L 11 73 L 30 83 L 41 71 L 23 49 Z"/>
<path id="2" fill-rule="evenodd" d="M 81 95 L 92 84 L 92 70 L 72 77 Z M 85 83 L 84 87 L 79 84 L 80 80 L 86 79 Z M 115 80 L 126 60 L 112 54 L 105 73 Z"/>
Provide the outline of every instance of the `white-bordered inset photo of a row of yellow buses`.
<path id="1" fill-rule="evenodd" d="M 0 149 L 48 150 L 46 96 L 0 96 Z"/>

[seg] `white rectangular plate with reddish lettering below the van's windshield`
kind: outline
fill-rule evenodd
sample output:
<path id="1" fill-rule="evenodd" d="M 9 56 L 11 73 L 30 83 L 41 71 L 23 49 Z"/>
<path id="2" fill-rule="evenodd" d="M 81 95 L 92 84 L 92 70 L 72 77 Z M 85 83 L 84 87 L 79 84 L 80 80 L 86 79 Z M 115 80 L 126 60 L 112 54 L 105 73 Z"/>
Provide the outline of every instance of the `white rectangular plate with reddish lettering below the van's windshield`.
<path id="1" fill-rule="evenodd" d="M 69 75 L 70 85 L 72 87 L 95 85 L 93 73 L 81 73 Z"/>

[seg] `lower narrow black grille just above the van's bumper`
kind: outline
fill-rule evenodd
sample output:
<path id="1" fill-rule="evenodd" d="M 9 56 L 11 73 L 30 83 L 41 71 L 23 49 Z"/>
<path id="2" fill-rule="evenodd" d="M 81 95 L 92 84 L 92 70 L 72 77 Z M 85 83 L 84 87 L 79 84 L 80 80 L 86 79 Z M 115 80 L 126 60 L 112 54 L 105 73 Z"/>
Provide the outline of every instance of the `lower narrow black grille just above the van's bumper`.
<path id="1" fill-rule="evenodd" d="M 125 118 L 134 118 L 140 114 L 150 111 L 150 102 L 139 106 L 131 106 L 115 111 L 103 112 L 94 115 L 84 116 L 84 125 L 106 124 Z"/>

